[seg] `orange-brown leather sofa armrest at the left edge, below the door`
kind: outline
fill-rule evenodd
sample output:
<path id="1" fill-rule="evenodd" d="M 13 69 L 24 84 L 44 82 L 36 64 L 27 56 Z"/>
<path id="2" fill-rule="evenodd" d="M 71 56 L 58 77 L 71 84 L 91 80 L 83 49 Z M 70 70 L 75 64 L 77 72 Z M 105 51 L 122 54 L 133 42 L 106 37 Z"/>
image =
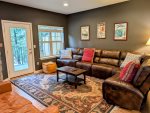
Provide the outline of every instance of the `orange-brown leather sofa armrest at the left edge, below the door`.
<path id="1" fill-rule="evenodd" d="M 6 93 L 12 90 L 10 82 L 2 82 L 0 83 L 0 94 Z"/>

